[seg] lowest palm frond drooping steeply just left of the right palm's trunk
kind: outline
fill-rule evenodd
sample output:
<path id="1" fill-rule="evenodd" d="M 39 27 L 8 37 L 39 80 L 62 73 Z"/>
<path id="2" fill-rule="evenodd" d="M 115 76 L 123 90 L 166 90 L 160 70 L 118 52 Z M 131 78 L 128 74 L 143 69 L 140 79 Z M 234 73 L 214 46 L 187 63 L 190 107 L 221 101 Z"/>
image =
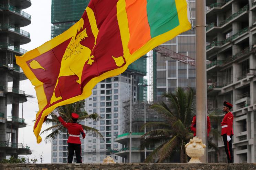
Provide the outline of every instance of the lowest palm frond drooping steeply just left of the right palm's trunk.
<path id="1" fill-rule="evenodd" d="M 164 159 L 171 156 L 171 153 L 173 152 L 173 149 L 177 146 L 178 139 L 177 136 L 174 136 L 171 140 L 169 140 L 166 144 L 164 144 L 159 154 L 158 163 L 161 163 Z"/>

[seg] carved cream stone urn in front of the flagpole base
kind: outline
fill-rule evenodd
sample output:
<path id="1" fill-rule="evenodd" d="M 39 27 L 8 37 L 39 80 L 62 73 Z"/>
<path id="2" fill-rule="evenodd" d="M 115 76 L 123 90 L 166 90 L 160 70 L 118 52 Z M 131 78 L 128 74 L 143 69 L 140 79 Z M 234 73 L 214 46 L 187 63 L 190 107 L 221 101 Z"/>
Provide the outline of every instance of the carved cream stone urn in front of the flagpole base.
<path id="1" fill-rule="evenodd" d="M 190 139 L 189 143 L 185 145 L 186 154 L 191 157 L 189 163 L 202 163 L 199 158 L 204 155 L 205 144 L 202 143 L 202 139 L 195 136 Z"/>

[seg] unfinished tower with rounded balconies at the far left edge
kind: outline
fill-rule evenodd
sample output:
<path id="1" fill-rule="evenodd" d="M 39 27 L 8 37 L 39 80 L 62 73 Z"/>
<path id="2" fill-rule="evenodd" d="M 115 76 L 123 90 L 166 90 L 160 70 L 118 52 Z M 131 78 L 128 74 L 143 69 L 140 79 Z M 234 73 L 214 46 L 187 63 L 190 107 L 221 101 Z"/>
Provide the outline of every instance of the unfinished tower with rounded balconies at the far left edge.
<path id="1" fill-rule="evenodd" d="M 0 160 L 31 154 L 30 148 L 19 143 L 18 138 L 19 128 L 26 126 L 19 104 L 27 101 L 28 96 L 20 84 L 27 78 L 15 61 L 15 55 L 26 52 L 20 45 L 30 42 L 30 34 L 21 29 L 31 23 L 31 15 L 22 11 L 30 6 L 30 0 L 0 2 Z M 7 105 L 11 105 L 9 116 Z"/>

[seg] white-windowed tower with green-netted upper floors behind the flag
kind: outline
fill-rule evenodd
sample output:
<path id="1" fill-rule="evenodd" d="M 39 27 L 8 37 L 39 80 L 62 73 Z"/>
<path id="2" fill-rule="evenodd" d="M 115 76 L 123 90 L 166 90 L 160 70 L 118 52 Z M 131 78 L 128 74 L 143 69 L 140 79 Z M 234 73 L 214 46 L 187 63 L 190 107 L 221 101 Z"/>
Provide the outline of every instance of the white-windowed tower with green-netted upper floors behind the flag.
<path id="1" fill-rule="evenodd" d="M 88 2 L 89 0 L 52 0 L 52 38 L 76 23 Z M 86 111 L 89 114 L 96 112 L 102 116 L 102 119 L 98 122 L 80 123 L 98 129 L 104 135 L 105 141 L 95 134 L 87 134 L 81 141 L 83 162 L 99 163 L 106 155 L 111 155 L 116 161 L 121 162 L 121 158 L 111 154 L 109 149 L 121 147 L 121 144 L 114 142 L 114 138 L 123 132 L 123 102 L 130 100 L 131 95 L 133 102 L 147 100 L 147 81 L 143 78 L 146 74 L 146 58 L 141 57 L 129 65 L 126 72 L 98 83 L 92 90 L 92 95 L 85 99 Z M 132 87 L 130 75 L 132 75 Z M 67 162 L 66 140 L 67 136 L 64 132 L 52 142 L 52 162 Z"/>

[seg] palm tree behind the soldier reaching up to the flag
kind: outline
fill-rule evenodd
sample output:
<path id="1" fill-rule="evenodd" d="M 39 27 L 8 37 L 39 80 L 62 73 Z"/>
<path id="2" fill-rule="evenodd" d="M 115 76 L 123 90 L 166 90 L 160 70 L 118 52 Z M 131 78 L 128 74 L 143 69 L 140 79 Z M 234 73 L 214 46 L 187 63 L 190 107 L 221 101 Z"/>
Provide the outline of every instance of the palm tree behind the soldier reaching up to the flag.
<path id="1" fill-rule="evenodd" d="M 57 111 L 60 114 L 60 116 L 63 118 L 63 120 L 66 122 L 72 122 L 71 113 L 77 113 L 79 115 L 77 122 L 81 122 L 87 119 L 91 119 L 94 121 L 100 120 L 101 117 L 97 113 L 88 114 L 84 108 L 85 108 L 85 101 L 80 100 L 72 104 L 60 106 L 57 108 Z M 44 124 L 46 125 L 51 124 L 52 126 L 48 127 L 47 129 L 45 129 L 40 133 L 41 135 L 42 133 L 51 131 L 51 133 L 45 137 L 44 139 L 45 143 L 51 142 L 53 139 L 56 139 L 58 137 L 58 134 L 63 133 L 65 130 L 65 127 L 60 123 L 58 118 L 56 116 L 53 116 L 52 113 L 50 115 L 52 118 L 47 118 Z M 100 136 L 103 138 L 102 134 L 100 134 L 97 129 L 94 129 L 92 127 L 85 126 L 85 125 L 82 125 L 82 126 L 85 133 L 94 133 L 96 134 L 96 136 Z"/>

